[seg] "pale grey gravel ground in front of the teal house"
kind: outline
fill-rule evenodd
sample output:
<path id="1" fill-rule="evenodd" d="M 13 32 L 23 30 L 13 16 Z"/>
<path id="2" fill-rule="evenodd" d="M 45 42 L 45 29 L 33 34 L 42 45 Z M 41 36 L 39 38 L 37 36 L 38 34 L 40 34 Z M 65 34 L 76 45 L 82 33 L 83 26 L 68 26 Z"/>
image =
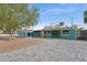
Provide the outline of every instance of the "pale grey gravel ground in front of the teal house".
<path id="1" fill-rule="evenodd" d="M 31 39 L 29 40 L 31 41 Z M 28 46 L 22 46 L 18 50 L 0 53 L 0 61 L 87 62 L 87 41 L 69 41 L 58 39 L 33 39 L 33 41 L 36 44 L 31 46 L 28 44 Z M 0 42 L 0 44 L 2 43 Z"/>

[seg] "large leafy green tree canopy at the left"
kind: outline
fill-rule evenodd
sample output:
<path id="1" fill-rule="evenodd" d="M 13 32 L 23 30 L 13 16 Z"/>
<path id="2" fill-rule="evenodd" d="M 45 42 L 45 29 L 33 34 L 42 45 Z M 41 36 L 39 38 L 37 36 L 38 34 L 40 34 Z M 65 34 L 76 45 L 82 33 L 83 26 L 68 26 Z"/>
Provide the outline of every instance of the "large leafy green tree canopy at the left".
<path id="1" fill-rule="evenodd" d="M 29 4 L 0 4 L 0 30 L 13 33 L 20 26 L 31 26 L 37 23 L 37 8 L 30 9 Z"/>

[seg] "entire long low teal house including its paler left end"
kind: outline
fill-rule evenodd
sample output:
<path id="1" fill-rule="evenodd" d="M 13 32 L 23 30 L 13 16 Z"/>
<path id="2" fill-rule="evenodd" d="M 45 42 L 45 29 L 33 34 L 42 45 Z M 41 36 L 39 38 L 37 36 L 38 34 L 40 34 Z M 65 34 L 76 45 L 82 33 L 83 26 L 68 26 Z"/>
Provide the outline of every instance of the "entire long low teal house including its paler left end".
<path id="1" fill-rule="evenodd" d="M 44 37 L 44 39 L 64 39 L 64 40 L 76 40 L 79 37 L 79 31 L 72 28 L 62 29 L 43 29 L 30 31 L 23 30 L 18 33 L 20 36 L 32 36 L 32 37 Z"/>

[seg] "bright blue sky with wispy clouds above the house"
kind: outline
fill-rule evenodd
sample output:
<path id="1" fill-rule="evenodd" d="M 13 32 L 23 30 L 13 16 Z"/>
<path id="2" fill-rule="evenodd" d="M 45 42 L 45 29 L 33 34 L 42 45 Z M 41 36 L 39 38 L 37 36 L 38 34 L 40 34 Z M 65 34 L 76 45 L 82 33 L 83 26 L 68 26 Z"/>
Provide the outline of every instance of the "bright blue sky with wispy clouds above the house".
<path id="1" fill-rule="evenodd" d="M 31 4 L 40 9 L 39 24 L 34 29 L 42 29 L 45 25 L 58 24 L 65 22 L 70 25 L 73 18 L 74 24 L 85 26 L 84 11 L 87 10 L 85 3 L 37 3 Z"/>

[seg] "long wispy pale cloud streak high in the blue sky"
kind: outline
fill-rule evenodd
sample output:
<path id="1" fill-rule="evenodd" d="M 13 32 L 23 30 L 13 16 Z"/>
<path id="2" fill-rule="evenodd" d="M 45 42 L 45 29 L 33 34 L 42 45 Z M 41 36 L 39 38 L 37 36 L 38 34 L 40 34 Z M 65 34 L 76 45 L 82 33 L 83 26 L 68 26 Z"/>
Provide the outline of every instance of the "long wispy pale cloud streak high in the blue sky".
<path id="1" fill-rule="evenodd" d="M 56 9 L 50 9 L 46 10 L 42 13 L 42 15 L 47 15 L 47 14 L 62 14 L 62 13 L 72 13 L 75 12 L 75 8 L 68 7 L 68 8 L 56 8 Z"/>

